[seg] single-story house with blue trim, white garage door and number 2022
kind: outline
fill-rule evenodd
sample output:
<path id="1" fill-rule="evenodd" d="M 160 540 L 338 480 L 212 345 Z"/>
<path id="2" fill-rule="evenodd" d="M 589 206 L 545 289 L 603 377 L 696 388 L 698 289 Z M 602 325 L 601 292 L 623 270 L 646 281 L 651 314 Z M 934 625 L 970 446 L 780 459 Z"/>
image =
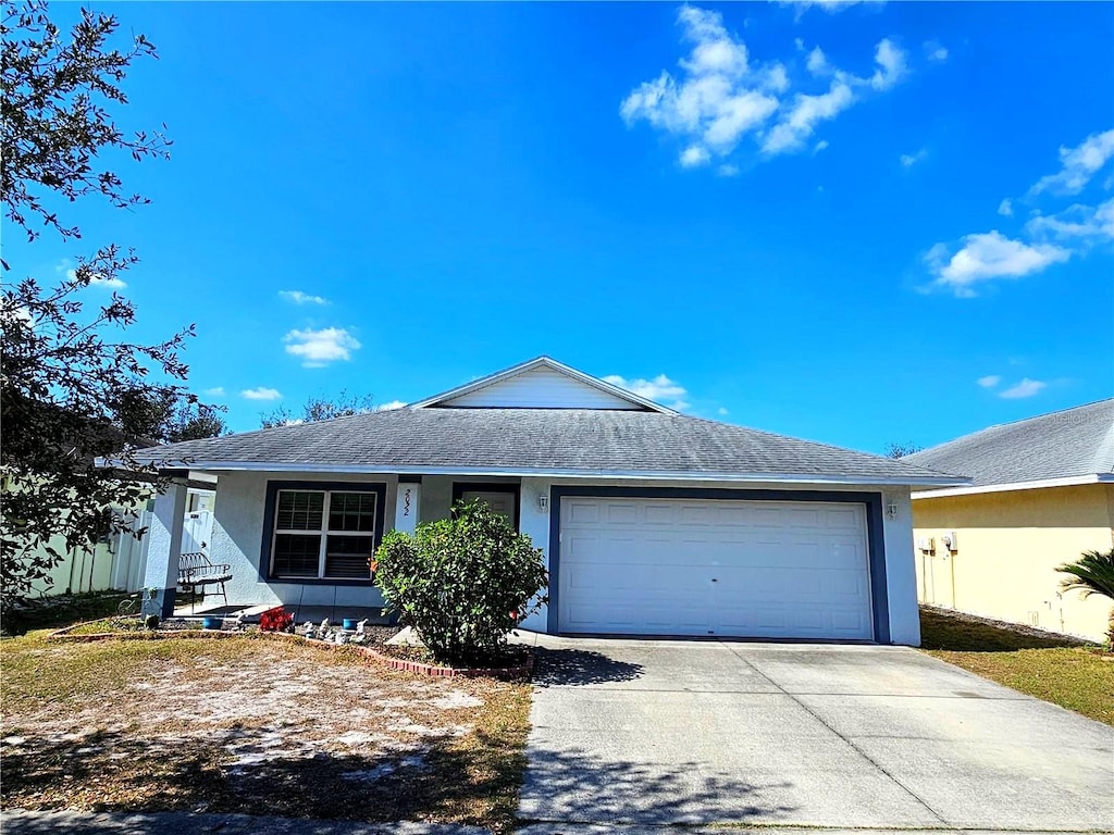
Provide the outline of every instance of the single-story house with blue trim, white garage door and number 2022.
<path id="1" fill-rule="evenodd" d="M 567 635 L 916 645 L 910 489 L 965 483 L 678 414 L 544 356 L 395 411 L 140 456 L 216 479 L 233 602 L 379 606 L 384 531 L 478 498 L 546 554 L 549 605 L 526 628 Z M 184 501 L 164 494 L 150 533 L 167 612 Z"/>

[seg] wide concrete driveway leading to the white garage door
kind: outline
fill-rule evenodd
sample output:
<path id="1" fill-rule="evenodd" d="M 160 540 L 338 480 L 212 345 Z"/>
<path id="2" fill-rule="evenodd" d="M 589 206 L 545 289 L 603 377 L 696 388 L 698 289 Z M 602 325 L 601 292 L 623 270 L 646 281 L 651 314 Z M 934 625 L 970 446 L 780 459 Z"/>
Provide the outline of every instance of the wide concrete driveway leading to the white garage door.
<path id="1" fill-rule="evenodd" d="M 519 814 L 539 835 L 616 823 L 1114 832 L 1114 729 L 912 649 L 537 641 Z"/>

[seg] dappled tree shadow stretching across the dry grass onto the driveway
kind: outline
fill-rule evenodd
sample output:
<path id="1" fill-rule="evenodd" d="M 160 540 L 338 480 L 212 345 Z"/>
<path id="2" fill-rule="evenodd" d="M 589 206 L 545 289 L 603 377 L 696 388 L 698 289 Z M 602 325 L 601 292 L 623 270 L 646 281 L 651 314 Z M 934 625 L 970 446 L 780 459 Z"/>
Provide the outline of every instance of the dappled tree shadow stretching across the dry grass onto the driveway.
<path id="1" fill-rule="evenodd" d="M 267 739 L 251 726 L 232 729 L 241 744 Z M 455 822 L 508 832 L 516 823 L 524 754 L 499 753 L 498 740 L 461 748 L 432 740 L 420 752 L 344 756 L 317 752 L 299 759 L 233 764 L 212 738 L 137 739 L 99 731 L 78 739 L 26 737 L 6 745 L 3 806 L 90 812 L 194 812 L 323 821 Z M 544 753 L 527 777 L 530 808 L 548 817 L 560 804 L 568 819 L 698 823 L 701 811 L 746 821 L 789 812 L 764 804 L 756 787 L 696 764 L 668 773 L 568 750 Z M 656 770 L 654 770 L 656 768 Z M 491 798 L 498 797 L 492 804 Z M 719 804 L 731 798 L 730 814 Z M 557 806 L 554 806 L 557 804 Z M 632 811 L 636 809 L 635 815 Z M 528 811 L 529 812 L 529 811 Z M 42 824 L 40 829 L 35 827 Z M 20 821 L 19 832 L 52 831 L 50 821 Z"/>

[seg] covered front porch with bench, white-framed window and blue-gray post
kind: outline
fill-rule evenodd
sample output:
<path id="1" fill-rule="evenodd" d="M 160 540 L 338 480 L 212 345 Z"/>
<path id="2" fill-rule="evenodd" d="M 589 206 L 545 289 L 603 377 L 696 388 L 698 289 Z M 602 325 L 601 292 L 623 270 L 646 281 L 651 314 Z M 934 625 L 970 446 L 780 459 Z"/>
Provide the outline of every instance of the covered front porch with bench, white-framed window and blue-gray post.
<path id="1" fill-rule="evenodd" d="M 192 600 L 180 583 L 178 554 L 186 484 L 198 477 L 216 491 L 208 558 L 231 579 Z M 150 513 L 144 587 L 156 592 L 146 610 L 163 618 L 219 615 L 252 622 L 282 606 L 297 623 L 385 623 L 382 596 L 363 566 L 387 533 L 413 533 L 419 522 L 448 519 L 456 501 L 481 499 L 544 547 L 548 493 L 548 481 L 468 473 L 183 472 Z"/>

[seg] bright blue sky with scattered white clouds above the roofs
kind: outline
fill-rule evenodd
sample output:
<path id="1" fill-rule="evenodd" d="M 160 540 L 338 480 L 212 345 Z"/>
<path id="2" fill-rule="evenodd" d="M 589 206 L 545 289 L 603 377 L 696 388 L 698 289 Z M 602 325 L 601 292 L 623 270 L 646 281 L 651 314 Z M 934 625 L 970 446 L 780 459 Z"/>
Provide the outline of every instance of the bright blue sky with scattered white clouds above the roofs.
<path id="1" fill-rule="evenodd" d="M 234 430 L 538 354 L 868 451 L 1114 394 L 1110 3 L 97 8 L 172 159 L 6 258 L 136 247 Z"/>

